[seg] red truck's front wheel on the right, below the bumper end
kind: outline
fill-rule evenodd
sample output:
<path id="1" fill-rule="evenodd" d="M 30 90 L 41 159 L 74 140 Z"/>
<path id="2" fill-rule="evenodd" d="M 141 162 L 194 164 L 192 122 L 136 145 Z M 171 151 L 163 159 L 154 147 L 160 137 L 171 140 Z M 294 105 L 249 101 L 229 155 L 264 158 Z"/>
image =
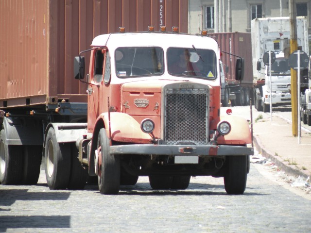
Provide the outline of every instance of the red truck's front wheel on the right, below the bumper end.
<path id="1" fill-rule="evenodd" d="M 247 181 L 248 156 L 227 156 L 224 175 L 227 194 L 243 194 Z"/>

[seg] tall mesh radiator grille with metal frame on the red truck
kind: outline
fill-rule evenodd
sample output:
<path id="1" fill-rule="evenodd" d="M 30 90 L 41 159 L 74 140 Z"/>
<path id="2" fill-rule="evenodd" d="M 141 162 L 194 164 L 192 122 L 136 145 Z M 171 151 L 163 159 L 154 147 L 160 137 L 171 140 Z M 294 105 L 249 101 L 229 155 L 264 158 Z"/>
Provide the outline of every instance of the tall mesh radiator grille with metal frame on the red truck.
<path id="1" fill-rule="evenodd" d="M 166 89 L 167 144 L 207 144 L 208 93 L 208 89 Z"/>

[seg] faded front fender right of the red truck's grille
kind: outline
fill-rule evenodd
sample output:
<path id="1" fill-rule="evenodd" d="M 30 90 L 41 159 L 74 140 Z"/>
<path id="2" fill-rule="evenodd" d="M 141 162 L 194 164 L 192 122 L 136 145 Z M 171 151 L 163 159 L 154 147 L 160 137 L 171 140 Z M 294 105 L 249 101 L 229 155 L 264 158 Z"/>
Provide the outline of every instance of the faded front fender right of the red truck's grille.
<path id="1" fill-rule="evenodd" d="M 231 125 L 231 131 L 217 139 L 217 144 L 245 145 L 252 143 L 252 136 L 247 120 L 241 116 L 220 116 L 210 123 L 210 130 L 216 130 L 220 121 L 227 121 Z"/>

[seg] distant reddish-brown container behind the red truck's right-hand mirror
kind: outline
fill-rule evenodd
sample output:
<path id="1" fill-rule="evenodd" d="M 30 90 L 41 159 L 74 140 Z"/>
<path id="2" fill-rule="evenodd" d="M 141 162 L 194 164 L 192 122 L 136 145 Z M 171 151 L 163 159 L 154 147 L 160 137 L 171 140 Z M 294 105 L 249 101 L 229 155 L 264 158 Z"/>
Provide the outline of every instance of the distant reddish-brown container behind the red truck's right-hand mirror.
<path id="1" fill-rule="evenodd" d="M 244 58 L 244 80 L 242 83 L 252 84 L 253 65 L 251 33 L 208 33 L 208 35 L 218 42 L 220 50 Z M 225 65 L 229 66 L 229 72 L 226 75 L 228 81 L 235 82 L 236 57 L 223 53 L 221 60 Z"/>

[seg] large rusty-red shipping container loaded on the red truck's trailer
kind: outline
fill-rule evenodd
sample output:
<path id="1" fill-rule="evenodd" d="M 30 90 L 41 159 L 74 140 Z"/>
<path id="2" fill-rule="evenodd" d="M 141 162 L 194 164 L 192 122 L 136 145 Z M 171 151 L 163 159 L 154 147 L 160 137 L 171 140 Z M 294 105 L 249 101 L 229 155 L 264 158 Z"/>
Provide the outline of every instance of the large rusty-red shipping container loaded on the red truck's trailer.
<path id="1" fill-rule="evenodd" d="M 121 26 L 187 33 L 188 0 L 1 0 L 0 25 L 1 109 L 86 102 L 86 84 L 73 79 L 74 56 Z"/>

